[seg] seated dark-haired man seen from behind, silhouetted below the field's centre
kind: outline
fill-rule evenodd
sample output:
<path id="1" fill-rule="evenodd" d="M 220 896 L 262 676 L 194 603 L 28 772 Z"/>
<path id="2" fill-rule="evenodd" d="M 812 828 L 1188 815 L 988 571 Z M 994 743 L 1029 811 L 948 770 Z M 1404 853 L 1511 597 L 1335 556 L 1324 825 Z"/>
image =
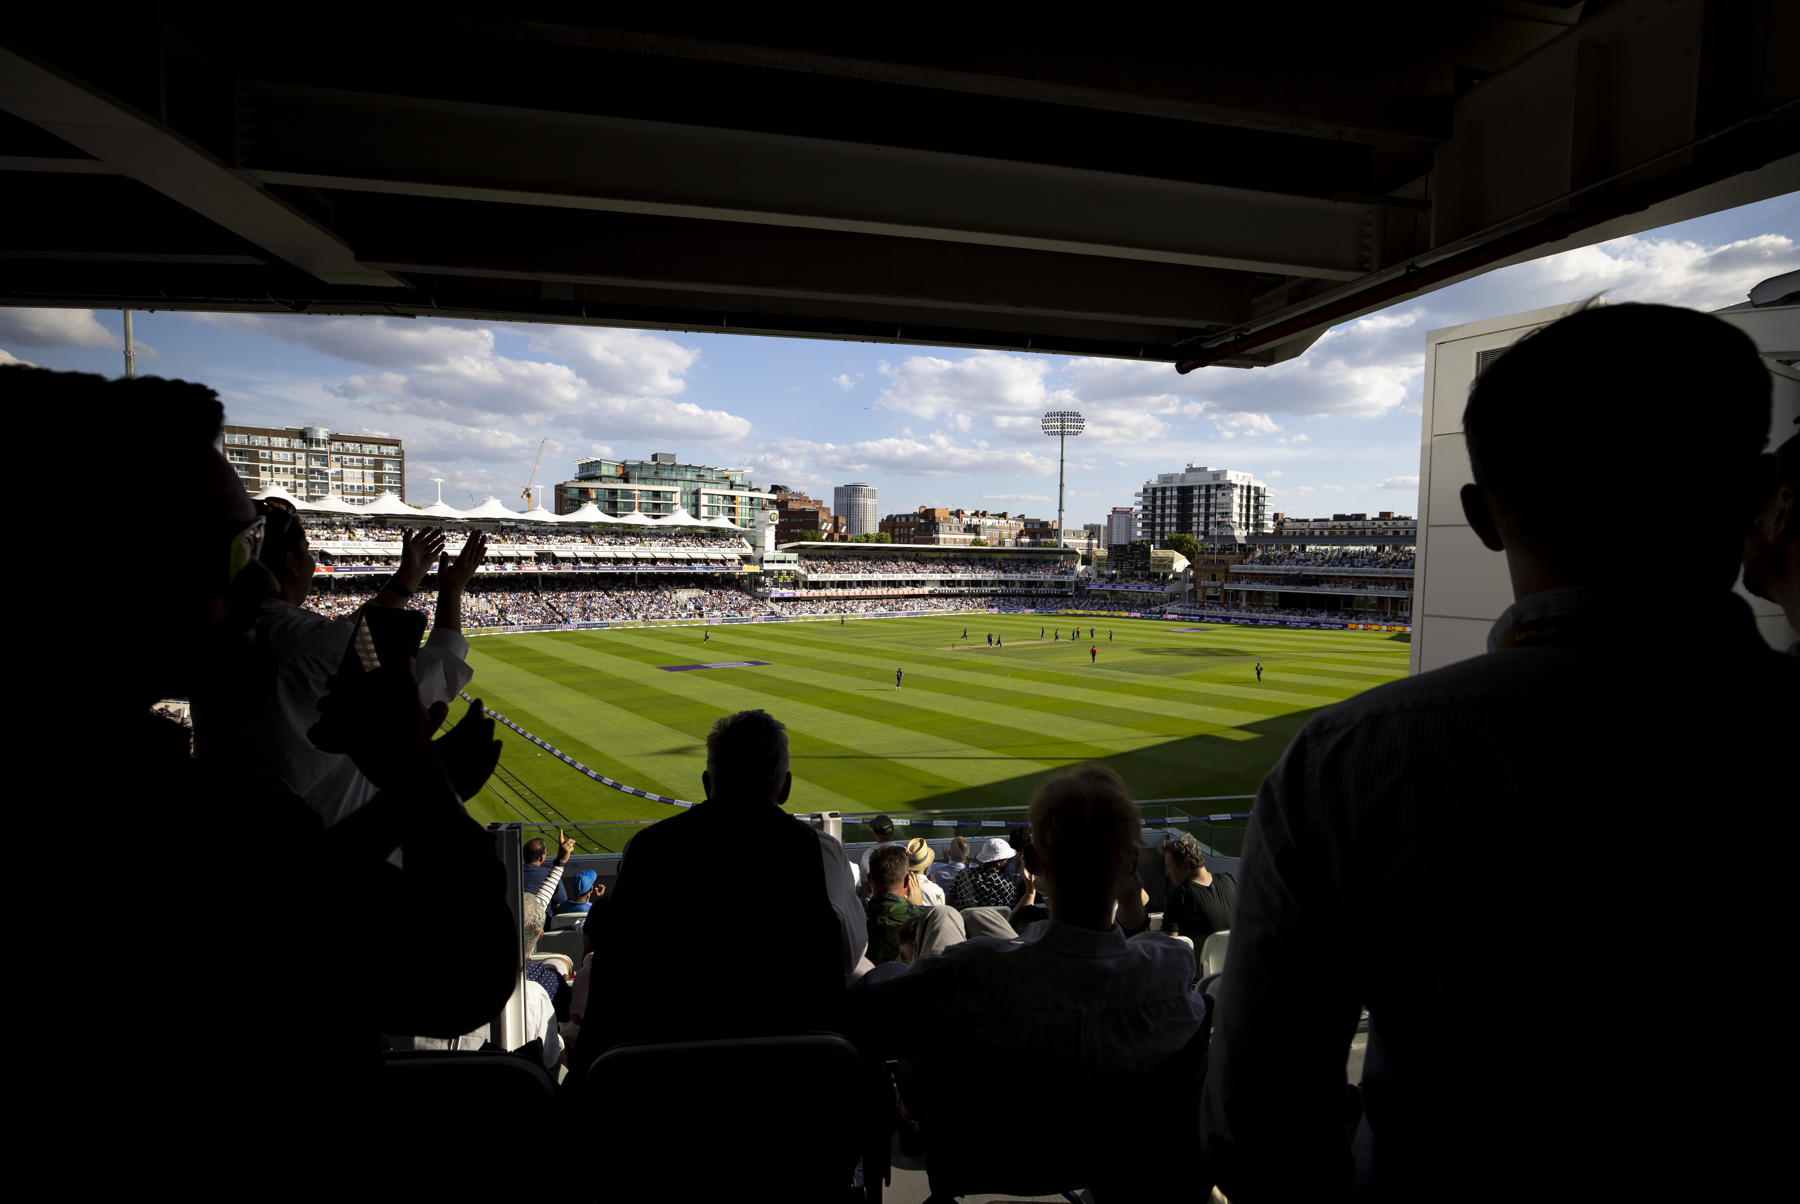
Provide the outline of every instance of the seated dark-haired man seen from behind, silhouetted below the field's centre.
<path id="1" fill-rule="evenodd" d="M 626 1040 L 700 1040 L 833 1031 L 844 986 L 868 948 L 844 846 L 781 810 L 794 776 L 787 729 L 740 711 L 706 738 L 706 803 L 644 828 L 619 860 L 603 932 L 589 936 L 605 968 L 571 1058 L 580 1080 Z M 893 846 L 905 860 L 905 849 Z M 783 884 L 754 957 L 740 957 L 734 903 L 695 876 L 697 858 L 752 855 Z M 727 972 L 729 968 L 729 972 Z"/>

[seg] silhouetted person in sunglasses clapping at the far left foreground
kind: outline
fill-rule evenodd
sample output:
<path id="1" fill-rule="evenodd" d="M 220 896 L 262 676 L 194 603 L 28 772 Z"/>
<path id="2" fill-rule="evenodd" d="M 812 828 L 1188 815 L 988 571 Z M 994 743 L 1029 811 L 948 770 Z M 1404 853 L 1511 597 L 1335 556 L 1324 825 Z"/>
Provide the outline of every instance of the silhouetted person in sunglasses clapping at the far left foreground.
<path id="1" fill-rule="evenodd" d="M 142 875 L 131 916 L 115 927 L 115 988 L 99 1008 L 115 1024 L 95 1056 L 135 1067 L 121 1083 L 133 1112 L 130 1141 L 153 1154 L 191 1141 L 189 1118 L 157 1100 L 167 1083 L 227 1098 L 243 1065 L 211 1056 L 207 1042 L 126 1042 L 124 1033 L 193 1031 L 193 965 L 171 956 L 169 936 L 193 916 L 189 821 L 230 830 L 256 871 L 281 884 L 279 898 L 256 909 L 227 907 L 212 939 L 261 952 L 261 986 L 232 1031 L 268 1035 L 279 1046 L 281 1087 L 256 1109 L 223 1109 L 214 1139 L 234 1154 L 304 1150 L 313 1173 L 351 1157 L 360 1141 L 387 1132 L 371 1109 L 382 1033 L 455 1037 L 479 1028 L 506 1002 L 518 974 L 518 925 L 493 842 L 470 821 L 461 797 L 475 794 L 499 756 L 493 723 L 479 709 L 455 734 L 434 741 L 445 711 L 427 713 L 405 669 L 378 669 L 338 682 L 360 695 L 358 767 L 380 794 L 326 833 L 317 813 L 292 795 L 227 779 L 191 758 L 187 732 L 153 714 L 160 698 L 185 698 L 245 655 L 245 633 L 275 581 L 257 562 L 261 515 L 216 446 L 223 409 L 203 385 L 139 378 L 104 382 L 74 373 L 0 367 L 0 396 L 40 421 L 131 428 L 133 446 L 176 482 L 180 506 L 155 517 L 155 589 L 133 596 L 130 655 L 113 639 L 67 641 L 59 689 L 79 691 L 85 756 L 103 747 L 113 785 L 95 801 L 97 828 L 153 867 Z M 151 419 L 151 421 L 146 421 Z M 67 686 L 61 686 L 67 682 Z M 405 869 L 389 862 L 405 853 Z M 407 972 L 394 972 L 369 916 L 392 914 L 430 896 L 441 927 L 409 936 Z M 428 968 L 428 972 L 423 972 Z M 306 1173 L 306 1172 L 302 1172 Z"/>

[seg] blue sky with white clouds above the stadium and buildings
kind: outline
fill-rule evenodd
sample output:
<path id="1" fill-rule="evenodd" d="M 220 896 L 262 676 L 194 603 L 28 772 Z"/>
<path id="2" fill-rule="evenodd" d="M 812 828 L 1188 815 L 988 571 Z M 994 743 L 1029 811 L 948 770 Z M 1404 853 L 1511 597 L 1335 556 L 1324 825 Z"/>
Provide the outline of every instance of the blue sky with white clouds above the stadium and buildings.
<path id="1" fill-rule="evenodd" d="M 137 313 L 139 374 L 205 382 L 227 421 L 400 436 L 407 500 L 466 508 L 583 455 L 747 468 L 880 513 L 1057 513 L 1049 409 L 1075 409 L 1067 524 L 1159 472 L 1251 472 L 1271 511 L 1417 515 L 1426 331 L 1606 295 L 1717 310 L 1800 268 L 1800 193 L 1501 268 L 1332 328 L 1269 369 L 436 319 Z M 115 310 L 0 308 L 0 362 L 119 376 Z M 544 491 L 545 500 L 549 490 Z"/>

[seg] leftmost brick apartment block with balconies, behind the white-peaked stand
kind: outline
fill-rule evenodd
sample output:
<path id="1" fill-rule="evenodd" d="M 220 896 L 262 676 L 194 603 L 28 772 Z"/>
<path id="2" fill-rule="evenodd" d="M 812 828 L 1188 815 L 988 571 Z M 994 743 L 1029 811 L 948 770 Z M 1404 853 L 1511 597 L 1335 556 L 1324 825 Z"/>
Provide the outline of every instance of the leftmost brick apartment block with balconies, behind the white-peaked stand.
<path id="1" fill-rule="evenodd" d="M 407 500 L 407 454 L 387 436 L 333 434 L 326 427 L 225 427 L 225 459 L 250 491 L 277 484 L 319 502 L 351 506 L 392 491 Z"/>

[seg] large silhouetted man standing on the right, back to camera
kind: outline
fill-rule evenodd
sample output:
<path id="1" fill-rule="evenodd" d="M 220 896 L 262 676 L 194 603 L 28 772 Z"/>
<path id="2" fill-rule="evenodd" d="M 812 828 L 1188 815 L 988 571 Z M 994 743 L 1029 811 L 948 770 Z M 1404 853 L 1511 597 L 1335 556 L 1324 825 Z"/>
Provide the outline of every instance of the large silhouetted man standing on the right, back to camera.
<path id="1" fill-rule="evenodd" d="M 1262 783 L 1202 1103 L 1224 1195 L 1732 1197 L 1777 1173 L 1760 1076 L 1791 1017 L 1764 974 L 1787 932 L 1793 759 L 1773 750 L 1800 729 L 1800 662 L 1732 594 L 1768 427 L 1755 347 L 1692 310 L 1589 308 L 1476 380 L 1462 502 L 1517 601 L 1487 655 L 1323 711 Z M 1706 504 L 1647 486 L 1676 432 Z M 1595 554 L 1602 515 L 1681 549 L 1679 621 L 1652 562 Z M 1427 617 L 1420 637 L 1449 633 Z M 1647 911 L 1647 867 L 1696 873 L 1696 822 L 1728 898 Z M 1663 995 L 1645 966 L 1683 948 L 1705 990 Z M 1670 1026 L 1706 1033 L 1678 1067 Z M 1674 1143 L 1672 1087 L 1706 1100 Z"/>

